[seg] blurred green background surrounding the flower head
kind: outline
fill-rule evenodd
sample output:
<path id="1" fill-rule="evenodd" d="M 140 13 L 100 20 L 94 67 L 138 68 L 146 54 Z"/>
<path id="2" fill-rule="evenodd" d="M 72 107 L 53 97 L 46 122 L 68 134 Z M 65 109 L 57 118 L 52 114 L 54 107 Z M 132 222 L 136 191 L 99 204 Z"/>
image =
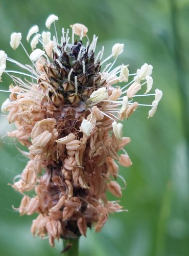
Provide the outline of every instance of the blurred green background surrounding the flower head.
<path id="1" fill-rule="evenodd" d="M 133 73 L 145 62 L 153 65 L 154 91 L 163 91 L 152 119 L 147 119 L 149 109 L 141 107 L 125 122 L 124 136 L 131 137 L 126 150 L 133 165 L 120 171 L 127 182 L 121 204 L 129 212 L 110 216 L 100 233 L 88 230 L 87 238 L 80 241 L 80 255 L 189 255 L 189 1 L 1 0 L 0 49 L 27 63 L 21 47 L 10 48 L 10 34 L 21 32 L 23 44 L 31 51 L 25 39 L 29 28 L 36 24 L 46 30 L 45 19 L 52 13 L 59 16 L 59 34 L 70 24 L 86 25 L 90 38 L 99 36 L 97 48 L 105 46 L 104 56 L 116 42 L 124 43 L 117 63 L 129 64 Z M 9 84 L 4 75 L 1 89 L 7 90 Z M 1 102 L 7 97 L 1 93 Z M 4 136 L 12 128 L 3 115 L 0 123 Z M 19 217 L 12 208 L 19 206 L 21 195 L 7 184 L 21 173 L 26 159 L 7 137 L 1 140 L 0 163 L 0 255 L 58 255 L 61 242 L 54 249 L 48 239 L 33 238 L 34 216 Z"/>

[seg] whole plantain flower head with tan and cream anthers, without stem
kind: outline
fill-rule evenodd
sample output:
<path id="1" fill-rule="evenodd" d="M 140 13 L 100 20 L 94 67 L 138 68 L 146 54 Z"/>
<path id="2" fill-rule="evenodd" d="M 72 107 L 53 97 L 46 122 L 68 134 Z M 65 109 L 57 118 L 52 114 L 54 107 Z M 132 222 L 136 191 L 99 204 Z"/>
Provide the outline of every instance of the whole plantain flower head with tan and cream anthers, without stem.
<path id="1" fill-rule="evenodd" d="M 30 65 L 0 51 L 0 78 L 6 73 L 14 82 L 9 99 L 2 105 L 2 112 L 9 112 L 9 123 L 16 126 L 8 136 L 29 150 L 21 151 L 29 161 L 12 185 L 23 195 L 17 210 L 20 215 L 38 213 L 31 231 L 34 236 L 48 237 L 52 246 L 55 239 L 85 236 L 87 227 L 99 231 L 109 213 L 123 211 L 117 201 L 106 197 L 107 190 L 122 196 L 122 188 L 115 181 L 120 177 L 115 161 L 125 167 L 132 164 L 124 150 L 130 138 L 122 137 L 123 125 L 117 121 L 127 119 L 144 105 L 133 99 L 145 95 L 155 95 L 152 105 L 147 105 L 152 106 L 152 117 L 162 96 L 158 89 L 147 94 L 153 83 L 151 65 L 145 63 L 136 74 L 129 74 L 128 65 L 113 68 L 123 44 L 115 44 L 111 55 L 102 60 L 104 47 L 95 54 L 96 35 L 90 42 L 87 28 L 75 24 L 70 26 L 72 38 L 69 30 L 62 29 L 59 41 L 55 20 L 58 17 L 50 15 L 45 24 L 48 29 L 54 24 L 53 40 L 50 32 L 40 35 L 38 26 L 29 30 L 30 55 L 22 45 L 21 33 L 11 35 L 11 47 L 21 45 Z M 38 44 L 42 50 L 35 49 Z M 107 64 L 110 58 L 113 61 Z M 7 70 L 6 62 L 20 70 Z M 130 76 L 133 78 L 128 82 Z M 119 82 L 126 84 L 113 87 Z M 146 93 L 136 95 L 145 84 Z M 123 154 L 118 155 L 120 150 Z M 32 189 L 34 197 L 28 194 Z"/>

